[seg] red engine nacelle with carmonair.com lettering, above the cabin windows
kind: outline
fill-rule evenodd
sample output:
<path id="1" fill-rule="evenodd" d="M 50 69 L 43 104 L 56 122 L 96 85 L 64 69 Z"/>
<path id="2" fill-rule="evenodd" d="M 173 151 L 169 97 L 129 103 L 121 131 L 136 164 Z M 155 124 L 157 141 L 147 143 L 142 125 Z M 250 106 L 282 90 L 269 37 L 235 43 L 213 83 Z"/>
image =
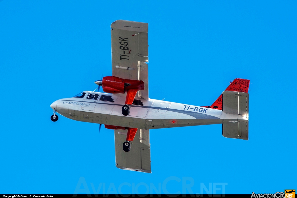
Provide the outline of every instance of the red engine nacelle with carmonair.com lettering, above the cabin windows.
<path id="1" fill-rule="evenodd" d="M 127 80 L 114 76 L 106 76 L 102 79 L 103 91 L 110 94 L 125 93 L 129 89 L 144 90 L 144 83 L 142 80 Z"/>

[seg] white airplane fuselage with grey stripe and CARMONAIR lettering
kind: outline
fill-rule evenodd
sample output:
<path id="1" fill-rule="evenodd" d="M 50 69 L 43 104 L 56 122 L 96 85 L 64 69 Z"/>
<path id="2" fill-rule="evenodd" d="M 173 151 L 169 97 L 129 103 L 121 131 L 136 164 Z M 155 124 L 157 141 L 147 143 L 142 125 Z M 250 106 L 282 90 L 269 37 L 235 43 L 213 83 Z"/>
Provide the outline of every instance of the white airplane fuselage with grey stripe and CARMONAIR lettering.
<path id="1" fill-rule="evenodd" d="M 53 102 L 50 107 L 72 120 L 124 126 L 138 129 L 160 129 L 179 126 L 220 124 L 223 121 L 247 120 L 241 115 L 228 114 L 222 110 L 161 100 L 140 99 L 143 106 L 130 105 L 130 114 L 124 116 L 121 108 L 126 94 L 107 94 L 84 91 L 83 98 L 64 98 Z M 97 100 L 87 99 L 87 95 L 99 94 Z M 114 102 L 101 101 L 100 96 L 111 96 Z"/>

